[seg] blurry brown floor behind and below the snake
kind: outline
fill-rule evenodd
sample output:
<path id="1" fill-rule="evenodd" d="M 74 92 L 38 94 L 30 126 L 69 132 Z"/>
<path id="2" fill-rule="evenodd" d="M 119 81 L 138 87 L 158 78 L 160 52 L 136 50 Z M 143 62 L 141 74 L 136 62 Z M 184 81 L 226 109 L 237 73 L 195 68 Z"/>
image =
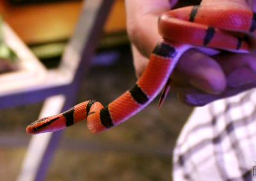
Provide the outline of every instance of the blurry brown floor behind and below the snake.
<path id="1" fill-rule="evenodd" d="M 77 103 L 97 99 L 104 105 L 136 81 L 129 46 L 112 52 L 118 60 L 90 68 Z M 158 98 L 157 98 L 158 99 Z M 86 122 L 66 129 L 45 180 L 171 180 L 172 148 L 191 108 L 169 94 L 162 108 L 151 103 L 120 126 L 91 134 Z M 42 103 L 0 110 L 0 180 L 15 180 Z"/>

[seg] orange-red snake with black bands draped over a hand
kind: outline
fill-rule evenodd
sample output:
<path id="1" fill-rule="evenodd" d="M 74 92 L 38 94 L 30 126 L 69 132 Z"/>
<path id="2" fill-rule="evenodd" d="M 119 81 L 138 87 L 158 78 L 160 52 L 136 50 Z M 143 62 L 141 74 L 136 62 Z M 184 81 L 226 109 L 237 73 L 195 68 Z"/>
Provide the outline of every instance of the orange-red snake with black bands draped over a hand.
<path id="1" fill-rule="evenodd" d="M 186 6 L 164 12 L 158 19 L 158 29 L 162 38 L 131 89 L 107 106 L 99 101 L 84 101 L 66 112 L 36 120 L 26 128 L 27 133 L 58 131 L 85 119 L 92 133 L 100 133 L 140 112 L 162 90 L 163 103 L 170 89 L 170 75 L 189 48 L 198 48 L 209 55 L 223 51 L 251 52 L 256 13 L 237 8 Z"/>

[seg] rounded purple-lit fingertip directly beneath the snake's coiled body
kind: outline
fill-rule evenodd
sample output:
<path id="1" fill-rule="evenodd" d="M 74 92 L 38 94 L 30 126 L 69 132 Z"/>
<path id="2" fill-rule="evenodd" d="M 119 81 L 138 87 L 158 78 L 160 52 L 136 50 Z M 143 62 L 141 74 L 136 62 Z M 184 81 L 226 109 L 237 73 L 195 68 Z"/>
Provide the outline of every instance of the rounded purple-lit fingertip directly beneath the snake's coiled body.
<path id="1" fill-rule="evenodd" d="M 211 94 L 220 94 L 226 87 L 225 74 L 218 62 L 195 49 L 180 57 L 171 78 Z"/>

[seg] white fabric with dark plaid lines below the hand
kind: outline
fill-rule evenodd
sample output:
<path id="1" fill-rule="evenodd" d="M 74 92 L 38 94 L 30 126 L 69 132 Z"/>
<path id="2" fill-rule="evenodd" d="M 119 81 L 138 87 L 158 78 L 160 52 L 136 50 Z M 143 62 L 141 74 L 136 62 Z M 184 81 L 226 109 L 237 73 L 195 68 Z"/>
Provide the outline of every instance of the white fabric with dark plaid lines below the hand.
<path id="1" fill-rule="evenodd" d="M 173 180 L 256 180 L 253 168 L 256 90 L 195 108 L 173 151 Z"/>

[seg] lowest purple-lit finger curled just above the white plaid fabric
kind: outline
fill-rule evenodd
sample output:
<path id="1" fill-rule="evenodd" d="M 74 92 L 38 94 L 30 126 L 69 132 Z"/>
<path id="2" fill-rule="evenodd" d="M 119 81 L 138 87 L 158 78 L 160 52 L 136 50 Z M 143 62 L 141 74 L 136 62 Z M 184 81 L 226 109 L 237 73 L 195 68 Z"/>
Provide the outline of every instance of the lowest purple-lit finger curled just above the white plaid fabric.
<path id="1" fill-rule="evenodd" d="M 214 59 L 218 60 L 227 75 L 228 85 L 225 91 L 218 95 L 207 94 L 191 85 L 185 86 L 179 82 L 172 82 L 173 91 L 177 92 L 177 96 L 182 103 L 191 106 L 204 106 L 217 99 L 234 96 L 256 86 L 255 55 L 223 53 L 214 56 Z"/>

